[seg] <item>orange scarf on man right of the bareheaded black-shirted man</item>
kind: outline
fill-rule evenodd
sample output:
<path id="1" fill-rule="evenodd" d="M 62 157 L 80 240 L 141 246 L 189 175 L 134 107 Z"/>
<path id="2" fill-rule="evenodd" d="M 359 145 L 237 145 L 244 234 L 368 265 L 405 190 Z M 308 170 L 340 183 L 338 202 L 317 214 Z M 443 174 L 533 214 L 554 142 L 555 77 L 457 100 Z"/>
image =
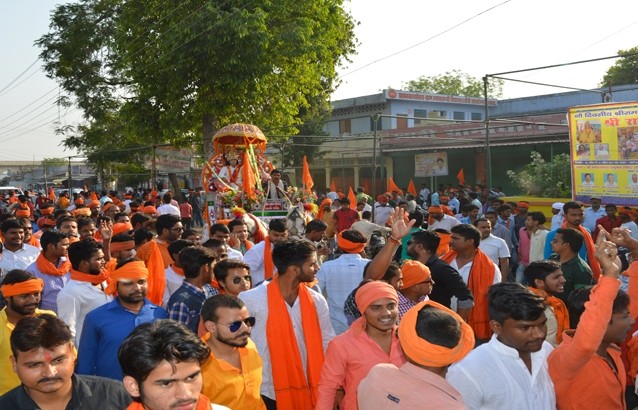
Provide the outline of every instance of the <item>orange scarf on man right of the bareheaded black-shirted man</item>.
<path id="1" fill-rule="evenodd" d="M 450 251 L 443 255 L 448 264 L 456 258 L 456 251 Z M 487 310 L 487 293 L 494 283 L 494 262 L 480 249 L 476 250 L 467 287 L 474 295 L 474 307 L 470 311 L 467 323 L 474 329 L 478 339 L 489 339 L 492 336 L 490 329 L 490 315 Z"/>

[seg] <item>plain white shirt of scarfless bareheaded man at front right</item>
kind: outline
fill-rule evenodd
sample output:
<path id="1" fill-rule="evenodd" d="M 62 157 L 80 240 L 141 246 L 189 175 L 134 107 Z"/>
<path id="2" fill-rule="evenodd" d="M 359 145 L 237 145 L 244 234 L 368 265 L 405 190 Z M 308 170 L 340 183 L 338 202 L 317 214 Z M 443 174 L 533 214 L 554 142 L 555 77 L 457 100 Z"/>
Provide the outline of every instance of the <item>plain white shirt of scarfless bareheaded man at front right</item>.
<path id="1" fill-rule="evenodd" d="M 496 334 L 459 363 L 450 366 L 447 381 L 463 396 L 469 410 L 553 410 L 554 384 L 547 357 L 554 348 L 547 342 L 531 354 L 532 372 L 518 351 L 499 342 Z"/>

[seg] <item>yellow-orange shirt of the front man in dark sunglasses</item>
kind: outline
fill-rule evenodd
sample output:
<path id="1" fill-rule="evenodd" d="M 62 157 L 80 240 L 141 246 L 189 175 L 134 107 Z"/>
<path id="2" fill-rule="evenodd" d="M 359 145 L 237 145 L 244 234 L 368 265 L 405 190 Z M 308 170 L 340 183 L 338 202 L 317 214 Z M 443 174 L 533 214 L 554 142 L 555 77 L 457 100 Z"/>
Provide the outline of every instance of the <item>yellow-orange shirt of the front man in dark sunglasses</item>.
<path id="1" fill-rule="evenodd" d="M 208 340 L 209 337 L 210 333 L 207 333 L 203 339 Z M 259 394 L 262 361 L 257 347 L 248 339 L 246 347 L 237 350 L 241 369 L 224 360 L 218 360 L 211 351 L 208 359 L 202 364 L 202 394 L 212 403 L 231 409 L 265 409 L 266 405 Z"/>

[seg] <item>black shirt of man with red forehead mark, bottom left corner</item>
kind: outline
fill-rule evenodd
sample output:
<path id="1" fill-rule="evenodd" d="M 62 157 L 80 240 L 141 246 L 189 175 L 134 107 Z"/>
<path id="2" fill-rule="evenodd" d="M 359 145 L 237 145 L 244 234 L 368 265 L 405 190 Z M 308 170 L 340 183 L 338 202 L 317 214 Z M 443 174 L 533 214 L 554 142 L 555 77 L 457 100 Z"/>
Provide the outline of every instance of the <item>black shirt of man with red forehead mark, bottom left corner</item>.
<path id="1" fill-rule="evenodd" d="M 98 376 L 72 376 L 73 387 L 67 410 L 122 410 L 132 402 L 122 382 Z M 0 396 L 2 410 L 39 410 L 23 385 Z"/>

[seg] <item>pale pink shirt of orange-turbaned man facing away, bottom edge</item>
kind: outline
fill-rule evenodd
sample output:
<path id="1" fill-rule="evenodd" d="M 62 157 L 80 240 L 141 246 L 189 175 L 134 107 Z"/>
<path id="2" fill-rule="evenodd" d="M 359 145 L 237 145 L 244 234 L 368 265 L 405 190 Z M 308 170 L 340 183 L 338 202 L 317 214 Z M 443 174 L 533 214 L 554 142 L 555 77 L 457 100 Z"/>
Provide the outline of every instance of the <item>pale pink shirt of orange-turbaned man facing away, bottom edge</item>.
<path id="1" fill-rule="evenodd" d="M 361 409 L 465 410 L 463 397 L 445 378 L 411 363 L 375 366 L 359 384 Z"/>

